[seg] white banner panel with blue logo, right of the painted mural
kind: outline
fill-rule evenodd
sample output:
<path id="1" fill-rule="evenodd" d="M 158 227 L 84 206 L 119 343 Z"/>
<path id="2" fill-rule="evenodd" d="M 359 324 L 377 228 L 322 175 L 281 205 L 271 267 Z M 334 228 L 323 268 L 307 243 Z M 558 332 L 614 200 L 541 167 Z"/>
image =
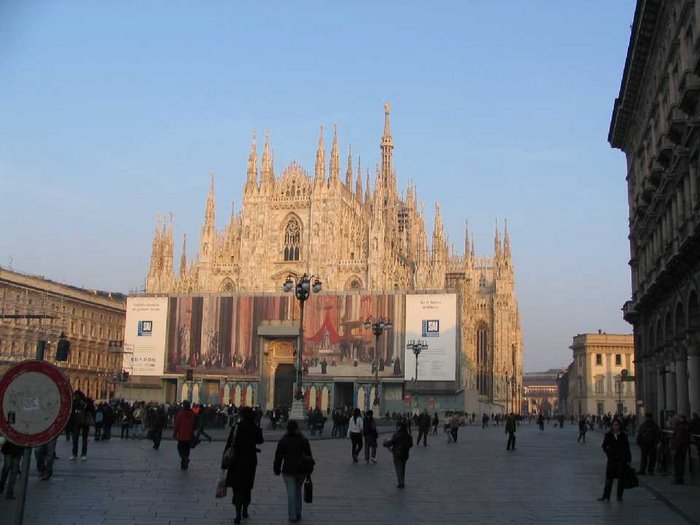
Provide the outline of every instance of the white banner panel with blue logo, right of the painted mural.
<path id="1" fill-rule="evenodd" d="M 406 343 L 423 341 L 418 356 L 418 381 L 455 381 L 457 362 L 457 295 L 407 295 Z M 416 375 L 416 356 L 406 349 L 404 379 Z"/>

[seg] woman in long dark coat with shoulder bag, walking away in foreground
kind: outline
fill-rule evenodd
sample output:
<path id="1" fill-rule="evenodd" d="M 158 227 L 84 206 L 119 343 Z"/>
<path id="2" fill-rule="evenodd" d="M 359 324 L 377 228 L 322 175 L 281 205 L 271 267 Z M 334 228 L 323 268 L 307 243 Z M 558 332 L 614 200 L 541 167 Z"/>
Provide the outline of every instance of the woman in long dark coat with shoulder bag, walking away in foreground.
<path id="1" fill-rule="evenodd" d="M 248 505 L 258 468 L 257 445 L 264 441 L 262 430 L 255 424 L 252 408 L 242 408 L 240 418 L 240 422 L 229 432 L 223 457 L 223 462 L 228 463 L 225 465 L 226 486 L 233 489 L 232 503 L 236 507 L 234 523 L 248 517 Z"/>

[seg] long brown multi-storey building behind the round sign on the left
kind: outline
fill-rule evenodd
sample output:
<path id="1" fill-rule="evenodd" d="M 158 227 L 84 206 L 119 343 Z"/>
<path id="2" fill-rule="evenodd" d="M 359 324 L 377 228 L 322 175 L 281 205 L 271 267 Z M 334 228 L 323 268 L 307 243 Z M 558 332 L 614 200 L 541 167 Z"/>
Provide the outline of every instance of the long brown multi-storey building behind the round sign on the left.
<path id="1" fill-rule="evenodd" d="M 126 297 L 56 283 L 0 268 L 0 374 L 36 356 L 60 367 L 73 389 L 93 399 L 109 399 L 122 372 L 122 356 L 110 350 L 124 335 Z M 68 361 L 56 362 L 61 333 L 70 341 Z M 110 345 L 110 342 L 112 344 Z"/>

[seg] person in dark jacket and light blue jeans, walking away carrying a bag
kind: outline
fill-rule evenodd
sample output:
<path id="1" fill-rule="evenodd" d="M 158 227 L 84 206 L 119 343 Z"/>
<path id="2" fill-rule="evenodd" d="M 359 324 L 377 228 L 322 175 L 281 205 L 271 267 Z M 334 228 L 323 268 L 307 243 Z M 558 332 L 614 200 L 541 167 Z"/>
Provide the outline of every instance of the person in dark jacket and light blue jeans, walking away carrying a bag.
<path id="1" fill-rule="evenodd" d="M 310 473 L 305 465 L 313 462 L 311 445 L 301 432 L 296 421 L 287 422 L 287 433 L 282 436 L 275 450 L 273 471 L 282 474 L 287 488 L 287 516 L 291 523 L 301 519 L 301 487 Z"/>

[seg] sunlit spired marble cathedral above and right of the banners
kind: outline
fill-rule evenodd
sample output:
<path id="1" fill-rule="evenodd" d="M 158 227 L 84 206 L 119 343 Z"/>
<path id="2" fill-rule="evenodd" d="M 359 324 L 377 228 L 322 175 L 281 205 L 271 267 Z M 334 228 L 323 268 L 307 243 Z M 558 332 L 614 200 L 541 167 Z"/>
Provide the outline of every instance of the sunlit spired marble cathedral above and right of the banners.
<path id="1" fill-rule="evenodd" d="M 313 176 L 296 162 L 277 175 L 269 135 L 260 161 L 253 136 L 240 211 L 223 230 L 216 228 L 212 175 L 199 253 L 188 262 L 185 239 L 178 272 L 172 218 L 160 221 L 147 294 L 281 293 L 288 275 L 304 273 L 318 275 L 324 293 L 457 293 L 457 382 L 473 393 L 465 404 L 505 409 L 510 400 L 516 407 L 523 346 L 507 225 L 502 236 L 496 228 L 493 256 L 476 255 L 468 227 L 458 253 L 436 204 L 429 239 L 416 187 L 397 188 L 388 104 L 380 150 L 373 184 L 351 152 L 341 174 L 337 132 L 328 159 L 322 127 Z"/>

